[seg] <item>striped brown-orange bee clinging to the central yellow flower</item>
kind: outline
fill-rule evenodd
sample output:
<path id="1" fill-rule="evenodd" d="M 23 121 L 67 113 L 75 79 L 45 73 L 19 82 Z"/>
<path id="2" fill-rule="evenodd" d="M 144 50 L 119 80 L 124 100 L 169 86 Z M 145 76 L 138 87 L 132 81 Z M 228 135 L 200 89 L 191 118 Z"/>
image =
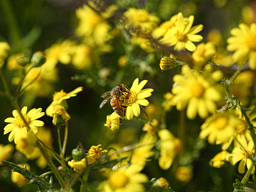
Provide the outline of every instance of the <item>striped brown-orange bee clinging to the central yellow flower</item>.
<path id="1" fill-rule="evenodd" d="M 108 91 L 102 94 L 102 98 L 106 98 L 100 104 L 100 108 L 102 108 L 109 100 L 110 104 L 118 115 L 124 116 L 124 110 L 127 108 L 127 105 L 124 104 L 124 100 L 128 99 L 130 96 L 130 88 L 128 86 L 124 86 L 124 84 L 120 83 L 118 86 L 112 88 L 111 91 Z"/>

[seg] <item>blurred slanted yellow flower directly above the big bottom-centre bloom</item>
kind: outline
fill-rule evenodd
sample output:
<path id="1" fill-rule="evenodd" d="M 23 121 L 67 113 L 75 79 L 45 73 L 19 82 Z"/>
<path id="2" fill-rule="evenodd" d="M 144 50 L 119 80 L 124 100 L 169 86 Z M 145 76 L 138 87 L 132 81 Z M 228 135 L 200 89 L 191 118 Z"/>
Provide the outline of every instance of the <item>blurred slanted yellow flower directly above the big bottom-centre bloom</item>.
<path id="1" fill-rule="evenodd" d="M 156 142 L 156 140 L 156 136 L 148 133 L 144 134 L 144 136 L 140 138 L 137 148 L 132 153 L 131 164 L 136 164 L 144 168 L 148 158 L 154 155 L 152 148 L 154 147 L 154 142 Z"/>

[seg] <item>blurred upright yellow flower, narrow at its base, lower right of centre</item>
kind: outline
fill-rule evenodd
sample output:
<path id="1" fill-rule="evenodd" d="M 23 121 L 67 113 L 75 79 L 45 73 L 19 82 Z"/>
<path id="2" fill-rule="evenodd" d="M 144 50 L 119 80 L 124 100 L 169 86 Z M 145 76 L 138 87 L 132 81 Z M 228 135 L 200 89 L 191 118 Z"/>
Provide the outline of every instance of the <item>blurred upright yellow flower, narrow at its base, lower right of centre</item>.
<path id="1" fill-rule="evenodd" d="M 168 129 L 159 130 L 158 136 L 161 140 L 158 164 L 162 170 L 168 170 L 172 166 L 176 154 L 183 148 L 182 141 L 179 138 L 175 138 Z"/>

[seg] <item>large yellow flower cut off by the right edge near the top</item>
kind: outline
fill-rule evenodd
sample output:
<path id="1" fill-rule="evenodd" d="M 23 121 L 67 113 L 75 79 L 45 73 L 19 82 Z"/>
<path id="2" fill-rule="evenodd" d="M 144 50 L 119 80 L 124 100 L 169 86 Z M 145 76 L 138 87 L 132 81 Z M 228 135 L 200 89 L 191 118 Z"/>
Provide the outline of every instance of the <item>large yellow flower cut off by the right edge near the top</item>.
<path id="1" fill-rule="evenodd" d="M 228 51 L 235 51 L 232 58 L 239 64 L 249 61 L 249 67 L 256 69 L 256 23 L 250 27 L 244 23 L 238 25 L 239 28 L 230 30 L 232 37 L 227 39 Z"/>

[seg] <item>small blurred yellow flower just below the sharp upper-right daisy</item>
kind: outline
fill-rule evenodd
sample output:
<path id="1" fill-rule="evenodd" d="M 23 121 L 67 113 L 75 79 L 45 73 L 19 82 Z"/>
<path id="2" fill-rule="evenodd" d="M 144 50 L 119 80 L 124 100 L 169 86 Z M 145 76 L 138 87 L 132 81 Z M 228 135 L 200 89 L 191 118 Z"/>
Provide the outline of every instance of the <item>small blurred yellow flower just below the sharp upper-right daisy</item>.
<path id="1" fill-rule="evenodd" d="M 200 43 L 192 53 L 193 64 L 202 66 L 216 54 L 216 48 L 212 42 Z"/>

